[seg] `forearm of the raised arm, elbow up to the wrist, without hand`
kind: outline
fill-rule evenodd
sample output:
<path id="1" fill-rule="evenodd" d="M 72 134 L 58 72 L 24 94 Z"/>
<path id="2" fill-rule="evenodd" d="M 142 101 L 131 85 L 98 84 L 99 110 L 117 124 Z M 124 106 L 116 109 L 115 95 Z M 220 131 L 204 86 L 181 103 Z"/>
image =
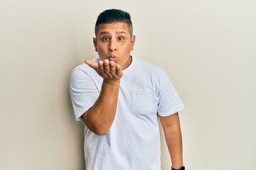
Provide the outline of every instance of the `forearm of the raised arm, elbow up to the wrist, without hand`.
<path id="1" fill-rule="evenodd" d="M 109 132 L 117 111 L 117 98 L 119 93 L 119 79 L 103 81 L 100 96 L 95 104 L 82 116 L 85 125 L 97 135 Z"/>

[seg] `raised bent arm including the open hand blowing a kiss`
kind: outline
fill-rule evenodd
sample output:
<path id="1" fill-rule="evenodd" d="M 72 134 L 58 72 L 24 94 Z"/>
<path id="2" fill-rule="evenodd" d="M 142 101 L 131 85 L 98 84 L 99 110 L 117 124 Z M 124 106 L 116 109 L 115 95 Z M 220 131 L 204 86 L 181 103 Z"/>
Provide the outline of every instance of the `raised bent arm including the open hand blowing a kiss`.
<path id="1" fill-rule="evenodd" d="M 98 63 L 85 61 L 90 67 L 103 78 L 100 96 L 95 104 L 85 111 L 82 120 L 87 128 L 97 135 L 106 135 L 114 121 L 117 110 L 117 98 L 119 93 L 119 82 L 122 70 L 119 64 L 109 60 Z"/>

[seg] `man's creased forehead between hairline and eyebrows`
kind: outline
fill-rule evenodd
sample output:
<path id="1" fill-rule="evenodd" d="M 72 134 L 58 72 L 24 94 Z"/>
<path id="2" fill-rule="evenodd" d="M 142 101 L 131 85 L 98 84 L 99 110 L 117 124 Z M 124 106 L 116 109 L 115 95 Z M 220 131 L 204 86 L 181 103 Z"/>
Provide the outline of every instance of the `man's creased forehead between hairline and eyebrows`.
<path id="1" fill-rule="evenodd" d="M 127 23 L 101 23 L 97 29 L 97 35 L 101 33 L 117 33 L 120 31 L 129 34 L 130 29 Z"/>

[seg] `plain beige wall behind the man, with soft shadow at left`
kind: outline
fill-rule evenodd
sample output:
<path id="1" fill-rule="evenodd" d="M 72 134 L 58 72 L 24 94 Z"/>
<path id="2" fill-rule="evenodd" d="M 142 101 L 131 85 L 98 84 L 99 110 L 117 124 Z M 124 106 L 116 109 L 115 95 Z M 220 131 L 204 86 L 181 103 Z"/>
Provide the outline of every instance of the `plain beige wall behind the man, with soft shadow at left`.
<path id="1" fill-rule="evenodd" d="M 183 99 L 187 169 L 255 169 L 255 0 L 0 0 L 0 169 L 84 169 L 68 83 L 97 56 L 105 8 L 132 14 L 132 55 L 163 67 Z"/>

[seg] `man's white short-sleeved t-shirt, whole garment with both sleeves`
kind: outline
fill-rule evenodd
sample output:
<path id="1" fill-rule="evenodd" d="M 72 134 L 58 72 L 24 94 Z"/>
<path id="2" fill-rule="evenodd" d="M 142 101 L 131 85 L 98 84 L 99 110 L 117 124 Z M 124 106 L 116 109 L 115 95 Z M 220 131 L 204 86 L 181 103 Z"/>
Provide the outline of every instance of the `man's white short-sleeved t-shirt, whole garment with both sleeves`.
<path id="1" fill-rule="evenodd" d="M 101 86 L 102 77 L 87 64 L 73 69 L 70 94 L 76 120 L 95 103 Z M 158 115 L 171 115 L 183 108 L 168 75 L 154 64 L 132 57 L 120 80 L 110 132 L 95 135 L 85 126 L 86 169 L 160 170 Z"/>

